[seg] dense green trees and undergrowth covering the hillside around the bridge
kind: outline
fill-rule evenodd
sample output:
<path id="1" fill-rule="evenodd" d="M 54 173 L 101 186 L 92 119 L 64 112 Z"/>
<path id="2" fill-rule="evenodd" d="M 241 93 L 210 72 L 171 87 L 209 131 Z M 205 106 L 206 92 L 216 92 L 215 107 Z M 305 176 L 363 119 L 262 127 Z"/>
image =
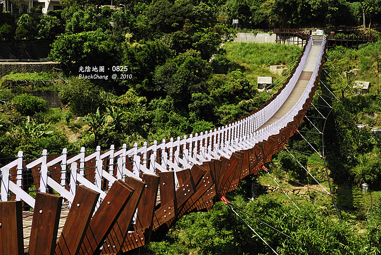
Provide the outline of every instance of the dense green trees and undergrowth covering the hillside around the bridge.
<path id="1" fill-rule="evenodd" d="M 9 79 L 28 84 L 0 91 L 4 103 L 0 157 L 4 162 L 20 150 L 29 159 L 39 157 L 42 149 L 59 154 L 65 147 L 69 153 L 78 153 L 82 146 L 91 151 L 97 145 L 107 149 L 111 144 L 118 148 L 123 143 L 129 147 L 134 142 L 160 142 L 209 131 L 249 114 L 271 96 L 258 92 L 257 77 L 275 80 L 278 76 L 270 73 L 269 65 L 292 69 L 301 49 L 231 43 L 235 36 L 232 19 L 248 29 L 357 26 L 381 21 L 379 0 L 115 0 L 115 6 L 126 5 L 120 10 L 101 8 L 106 3 L 102 0 L 62 3 L 63 10 L 47 15 L 37 15 L 42 8 L 31 9 L 32 14 L 0 14 L 0 39 L 53 38 L 49 57 L 60 62 L 63 71 L 62 84 L 54 87 L 60 90 L 62 109 L 49 109 L 42 99 L 24 93 L 36 89 L 27 81 L 53 79 L 57 74 L 11 74 L 1 80 L 3 88 Z M 295 134 L 287 144 L 297 151 L 294 157 L 281 151 L 267 167 L 303 184 L 315 181 L 305 169 L 318 181 L 327 181 L 318 155 L 324 142 L 343 220 L 337 219 L 330 200 L 321 202 L 314 193 L 309 194 L 311 201 L 299 201 L 300 211 L 270 196 L 252 202 L 240 196 L 231 198 L 296 239 L 247 219 L 279 254 L 380 254 L 380 202 L 375 199 L 369 205 L 345 189 L 363 182 L 372 190 L 381 187 L 381 137 L 368 128 L 381 127 L 380 43 L 359 49 L 337 47 L 327 57 L 327 75 L 321 80 L 340 101 L 321 85 L 318 94 L 323 97 L 314 98 L 316 108 L 311 107 L 307 114 L 313 121 L 304 121 L 299 128 L 313 148 Z M 354 69 L 360 69 L 360 74 Z M 111 78 L 113 73 L 117 78 Z M 102 78 L 81 78 L 85 75 Z M 359 79 L 371 82 L 368 95 L 354 93 L 353 83 Z M 357 124 L 368 127 L 359 131 Z M 245 183 L 249 186 L 249 180 Z M 250 193 L 247 187 L 239 192 Z M 354 202 L 356 199 L 359 201 Z M 164 241 L 137 253 L 271 251 L 227 206 L 217 203 L 209 213 L 183 217 Z"/>

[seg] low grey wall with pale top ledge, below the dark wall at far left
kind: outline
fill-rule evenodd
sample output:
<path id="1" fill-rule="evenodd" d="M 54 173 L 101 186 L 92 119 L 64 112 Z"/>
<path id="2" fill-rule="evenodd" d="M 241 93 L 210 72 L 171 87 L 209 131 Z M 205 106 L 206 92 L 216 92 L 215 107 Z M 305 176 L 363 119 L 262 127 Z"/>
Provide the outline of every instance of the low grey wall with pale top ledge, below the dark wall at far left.
<path id="1" fill-rule="evenodd" d="M 54 68 L 60 68 L 56 62 L 0 62 L 0 78 L 14 73 L 40 73 L 51 72 Z"/>

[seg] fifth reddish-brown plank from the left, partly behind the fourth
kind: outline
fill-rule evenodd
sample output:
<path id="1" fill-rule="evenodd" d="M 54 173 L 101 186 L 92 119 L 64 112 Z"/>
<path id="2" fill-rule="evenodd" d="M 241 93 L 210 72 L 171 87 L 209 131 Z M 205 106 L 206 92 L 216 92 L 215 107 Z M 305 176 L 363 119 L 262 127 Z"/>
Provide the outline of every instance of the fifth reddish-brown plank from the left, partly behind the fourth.
<path id="1" fill-rule="evenodd" d="M 103 246 L 102 254 L 114 254 L 121 251 L 131 226 L 132 218 L 135 215 L 139 200 L 146 186 L 145 182 L 133 177 L 128 177 L 126 179 L 126 184 L 132 187 L 135 191 L 129 198 L 127 205 L 122 210 L 121 215 L 116 219 L 110 234 L 104 239 L 106 242 Z"/>

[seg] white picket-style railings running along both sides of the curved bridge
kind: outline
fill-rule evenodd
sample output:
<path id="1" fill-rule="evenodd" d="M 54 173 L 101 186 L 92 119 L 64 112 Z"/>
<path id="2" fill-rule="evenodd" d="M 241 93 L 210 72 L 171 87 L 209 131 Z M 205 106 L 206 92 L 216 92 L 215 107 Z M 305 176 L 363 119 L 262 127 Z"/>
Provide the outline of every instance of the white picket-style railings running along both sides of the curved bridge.
<path id="1" fill-rule="evenodd" d="M 34 208 L 35 198 L 30 196 L 33 192 L 31 187 L 39 186 L 38 191 L 46 193 L 53 189 L 70 204 L 75 196 L 76 187 L 81 184 L 100 192 L 100 203 L 106 196 L 107 189 L 117 179 L 141 179 L 141 173 L 154 175 L 157 172 L 177 172 L 213 158 L 230 158 L 233 152 L 253 148 L 256 143 L 278 134 L 279 130 L 292 121 L 302 109 L 318 75 L 325 43 L 323 39 L 315 71 L 300 99 L 287 114 L 267 127 L 261 128 L 279 110 L 294 89 L 310 52 L 312 38 L 308 41 L 293 77 L 279 95 L 260 111 L 205 133 L 191 134 L 183 139 L 163 139 L 161 143 L 154 141 L 150 146 L 144 142 L 140 148 L 137 143 L 131 149 L 127 149 L 124 144 L 119 150 L 115 150 L 112 145 L 107 152 L 101 152 L 98 146 L 94 153 L 87 155 L 83 147 L 78 155 L 72 157 L 67 156 L 66 149 L 63 149 L 60 157 L 50 161 L 47 151 L 43 150 L 42 157 L 26 165 L 22 152 L 19 152 L 16 160 L 0 168 L 0 201 L 9 200 L 12 192 L 16 200 L 23 200 Z M 33 179 L 32 185 L 26 183 L 28 179 L 29 182 Z"/>

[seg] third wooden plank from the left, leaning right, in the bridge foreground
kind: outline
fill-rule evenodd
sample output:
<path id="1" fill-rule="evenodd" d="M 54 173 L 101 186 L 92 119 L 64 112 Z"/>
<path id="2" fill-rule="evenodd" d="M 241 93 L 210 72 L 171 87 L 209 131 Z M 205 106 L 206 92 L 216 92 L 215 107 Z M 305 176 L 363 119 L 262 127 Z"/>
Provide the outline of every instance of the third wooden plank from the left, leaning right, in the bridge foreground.
<path id="1" fill-rule="evenodd" d="M 77 255 L 85 238 L 100 193 L 78 186 L 55 255 Z"/>

